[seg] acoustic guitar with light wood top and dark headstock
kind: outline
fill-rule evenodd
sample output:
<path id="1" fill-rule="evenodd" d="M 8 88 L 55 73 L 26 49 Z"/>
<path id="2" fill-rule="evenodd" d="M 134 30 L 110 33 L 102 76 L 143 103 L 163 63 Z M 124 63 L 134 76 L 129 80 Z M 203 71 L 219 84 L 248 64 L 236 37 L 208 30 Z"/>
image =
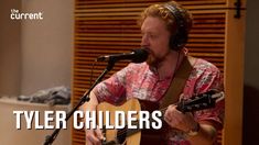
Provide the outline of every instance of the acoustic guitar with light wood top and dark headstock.
<path id="1" fill-rule="evenodd" d="M 187 100 L 181 100 L 176 103 L 176 109 L 183 113 L 193 112 L 204 109 L 214 108 L 216 101 L 222 100 L 224 98 L 223 92 L 208 91 L 195 97 L 192 97 Z M 97 105 L 98 111 L 109 111 L 110 123 L 115 124 L 115 112 L 123 111 L 126 114 L 128 111 L 141 111 L 148 110 L 150 112 L 158 110 L 159 104 L 149 102 L 149 101 L 140 101 L 138 99 L 130 99 L 125 102 L 122 105 L 112 105 L 107 102 L 101 102 Z M 166 108 L 161 109 L 160 111 L 164 114 Z M 137 116 L 138 118 L 138 116 Z M 163 120 L 163 115 L 160 118 Z M 98 120 L 98 115 L 97 115 Z M 106 120 L 106 116 L 102 118 L 102 121 Z M 105 121 L 104 121 L 105 122 Z M 127 122 L 127 121 L 126 121 Z M 133 122 L 133 124 L 138 124 L 138 121 Z M 102 126 L 102 134 L 105 140 L 102 141 L 102 145 L 139 145 L 139 144 L 163 144 L 163 133 L 164 129 L 168 127 L 168 124 L 163 122 L 163 126 L 161 130 L 141 130 L 141 129 L 120 129 L 120 130 L 106 130 L 106 126 Z M 145 136 L 145 137 L 144 137 Z M 157 142 L 157 143 L 155 143 Z"/>

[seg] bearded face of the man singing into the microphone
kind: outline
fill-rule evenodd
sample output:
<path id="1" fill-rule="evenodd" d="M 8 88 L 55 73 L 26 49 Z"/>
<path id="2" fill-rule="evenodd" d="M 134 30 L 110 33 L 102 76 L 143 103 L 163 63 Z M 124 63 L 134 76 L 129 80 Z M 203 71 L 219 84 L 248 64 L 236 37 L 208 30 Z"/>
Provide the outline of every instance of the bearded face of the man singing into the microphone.
<path id="1" fill-rule="evenodd" d="M 147 47 L 150 52 L 147 63 L 151 66 L 155 66 L 162 62 L 170 52 L 170 32 L 163 20 L 148 16 L 141 25 L 141 46 Z"/>

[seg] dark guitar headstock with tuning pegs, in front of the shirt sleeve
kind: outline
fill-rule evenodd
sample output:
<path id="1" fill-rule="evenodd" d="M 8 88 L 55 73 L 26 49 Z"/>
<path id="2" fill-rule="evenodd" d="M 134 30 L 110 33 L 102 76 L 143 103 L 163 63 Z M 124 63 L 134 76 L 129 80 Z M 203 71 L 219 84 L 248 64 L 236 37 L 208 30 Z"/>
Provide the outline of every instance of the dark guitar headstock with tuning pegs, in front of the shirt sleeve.
<path id="1" fill-rule="evenodd" d="M 209 90 L 205 93 L 192 97 L 187 100 L 181 100 L 176 109 L 183 113 L 214 108 L 217 99 L 224 98 L 223 92 Z"/>

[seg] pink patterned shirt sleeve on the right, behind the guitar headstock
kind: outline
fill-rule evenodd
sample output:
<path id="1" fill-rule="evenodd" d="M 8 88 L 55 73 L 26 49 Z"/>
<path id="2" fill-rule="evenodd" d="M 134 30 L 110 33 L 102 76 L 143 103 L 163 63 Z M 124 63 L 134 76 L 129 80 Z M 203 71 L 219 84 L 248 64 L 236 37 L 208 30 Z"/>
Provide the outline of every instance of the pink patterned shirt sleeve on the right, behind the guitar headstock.
<path id="1" fill-rule="evenodd" d="M 206 62 L 199 64 L 198 69 L 188 80 L 188 87 L 192 88 L 192 96 L 205 93 L 209 90 L 223 91 L 223 77 L 219 69 Z M 186 89 L 186 91 L 190 91 Z M 223 127 L 224 123 L 225 100 L 222 99 L 212 109 L 196 111 L 194 116 L 197 121 L 211 121 L 216 124 L 218 130 Z"/>

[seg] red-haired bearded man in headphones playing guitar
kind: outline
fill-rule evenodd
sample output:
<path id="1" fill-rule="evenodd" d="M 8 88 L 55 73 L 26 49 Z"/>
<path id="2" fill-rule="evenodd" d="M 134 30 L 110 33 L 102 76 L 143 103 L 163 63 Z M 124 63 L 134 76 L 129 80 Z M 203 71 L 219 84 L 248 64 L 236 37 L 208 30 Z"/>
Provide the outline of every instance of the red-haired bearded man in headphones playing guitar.
<path id="1" fill-rule="evenodd" d="M 141 46 L 149 52 L 142 64 L 129 64 L 109 79 L 100 82 L 90 93 L 90 102 L 84 110 L 96 110 L 99 102 L 121 104 L 131 97 L 159 102 L 164 97 L 182 62 L 187 56 L 184 47 L 192 26 L 190 13 L 171 1 L 147 8 L 139 20 L 142 32 Z M 219 70 L 211 63 L 190 59 L 192 71 L 182 90 L 182 98 L 208 90 L 223 90 Z M 180 97 L 176 98 L 180 100 Z M 166 144 L 214 144 L 216 133 L 223 127 L 224 102 L 214 109 L 182 113 L 171 104 L 164 120 L 170 132 L 164 135 Z M 86 144 L 100 144 L 100 130 L 86 130 Z M 162 143 L 164 144 L 164 143 Z"/>

